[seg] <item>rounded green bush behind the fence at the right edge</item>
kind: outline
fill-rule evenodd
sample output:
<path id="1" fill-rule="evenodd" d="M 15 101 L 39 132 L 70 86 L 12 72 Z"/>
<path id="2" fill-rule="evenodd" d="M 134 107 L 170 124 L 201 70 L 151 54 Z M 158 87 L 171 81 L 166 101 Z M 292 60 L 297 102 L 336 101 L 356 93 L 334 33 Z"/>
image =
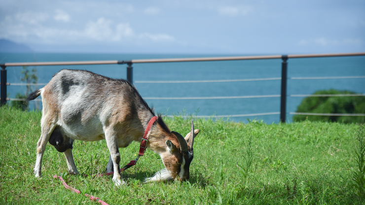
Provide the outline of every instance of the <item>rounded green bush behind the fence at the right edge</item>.
<path id="1" fill-rule="evenodd" d="M 323 90 L 317 91 L 314 95 L 338 95 L 356 94 L 351 91 Z M 365 97 L 307 97 L 297 107 L 296 112 L 309 113 L 365 113 Z M 314 115 L 294 115 L 293 121 L 303 120 L 340 122 L 340 123 L 364 123 L 365 116 L 314 116 Z"/>

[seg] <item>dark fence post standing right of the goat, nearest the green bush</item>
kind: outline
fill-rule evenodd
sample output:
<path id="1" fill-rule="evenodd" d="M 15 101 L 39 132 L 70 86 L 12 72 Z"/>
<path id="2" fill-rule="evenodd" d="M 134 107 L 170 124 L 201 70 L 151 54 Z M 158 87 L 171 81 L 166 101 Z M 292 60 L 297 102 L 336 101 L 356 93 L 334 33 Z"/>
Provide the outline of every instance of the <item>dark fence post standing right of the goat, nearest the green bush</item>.
<path id="1" fill-rule="evenodd" d="M 281 102 L 280 102 L 280 121 L 285 123 L 287 114 L 287 76 L 288 76 L 288 56 L 283 55 L 281 64 Z"/>

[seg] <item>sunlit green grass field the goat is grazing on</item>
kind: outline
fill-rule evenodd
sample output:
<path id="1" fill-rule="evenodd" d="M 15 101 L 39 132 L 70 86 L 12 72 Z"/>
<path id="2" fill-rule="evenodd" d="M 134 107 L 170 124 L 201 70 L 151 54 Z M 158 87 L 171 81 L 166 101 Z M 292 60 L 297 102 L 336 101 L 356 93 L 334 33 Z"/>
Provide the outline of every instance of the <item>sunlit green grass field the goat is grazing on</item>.
<path id="1" fill-rule="evenodd" d="M 35 178 L 40 112 L 0 108 L 0 204 L 86 204 L 95 202 L 66 190 L 54 174 L 108 204 L 361 204 L 352 182 L 359 125 L 304 121 L 248 124 L 194 119 L 189 182 L 143 183 L 163 168 L 147 150 L 123 173 L 128 186 L 115 187 L 111 176 L 68 175 L 64 155 L 49 144 L 41 179 Z M 186 135 L 190 119 L 165 118 L 171 130 Z M 250 141 L 250 137 L 252 139 Z M 103 173 L 109 152 L 105 140 L 75 141 L 78 171 Z M 120 149 L 122 164 L 134 159 L 139 143 Z M 252 155 L 250 157 L 250 155 Z M 246 171 L 247 170 L 247 171 Z"/>

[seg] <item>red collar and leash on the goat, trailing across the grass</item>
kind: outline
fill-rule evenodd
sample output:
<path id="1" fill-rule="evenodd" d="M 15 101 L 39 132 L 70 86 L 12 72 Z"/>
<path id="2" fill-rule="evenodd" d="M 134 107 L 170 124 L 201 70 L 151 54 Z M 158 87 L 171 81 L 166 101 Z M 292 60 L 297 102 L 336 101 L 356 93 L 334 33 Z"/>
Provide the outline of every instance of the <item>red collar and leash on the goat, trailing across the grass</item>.
<path id="1" fill-rule="evenodd" d="M 130 168 L 130 167 L 133 167 L 134 165 L 137 164 L 137 161 L 138 159 L 144 155 L 145 151 L 146 151 L 146 147 L 147 147 L 147 141 L 148 141 L 148 135 L 149 135 L 149 132 L 151 131 L 151 127 L 153 125 L 153 123 L 157 120 L 157 117 L 156 116 L 153 116 L 148 124 L 147 124 L 147 127 L 146 127 L 146 131 L 145 131 L 145 134 L 143 135 L 142 137 L 142 141 L 141 141 L 141 146 L 140 146 L 140 151 L 138 153 L 138 157 L 135 159 L 135 160 L 132 160 L 130 163 L 128 163 L 126 166 L 124 166 L 122 169 L 120 169 L 120 172 Z M 99 176 L 104 176 L 104 175 L 111 175 L 113 174 L 114 172 L 109 172 L 109 173 L 101 173 L 101 174 L 96 174 L 94 175 L 94 177 L 99 177 Z M 87 175 L 86 175 L 87 176 Z M 54 175 L 53 178 L 58 178 L 61 180 L 62 184 L 64 185 L 64 187 L 66 189 L 70 189 L 71 191 L 77 193 L 77 194 L 81 194 L 81 192 L 69 185 L 67 185 L 67 183 L 65 182 L 65 180 L 61 177 L 61 176 L 57 176 L 57 175 Z M 105 203 L 104 201 L 100 200 L 98 197 L 94 197 L 94 196 L 91 196 L 89 194 L 84 194 L 85 197 L 89 197 L 91 201 L 96 201 L 96 202 L 99 202 L 101 203 L 102 205 L 108 205 L 107 203 Z"/>

